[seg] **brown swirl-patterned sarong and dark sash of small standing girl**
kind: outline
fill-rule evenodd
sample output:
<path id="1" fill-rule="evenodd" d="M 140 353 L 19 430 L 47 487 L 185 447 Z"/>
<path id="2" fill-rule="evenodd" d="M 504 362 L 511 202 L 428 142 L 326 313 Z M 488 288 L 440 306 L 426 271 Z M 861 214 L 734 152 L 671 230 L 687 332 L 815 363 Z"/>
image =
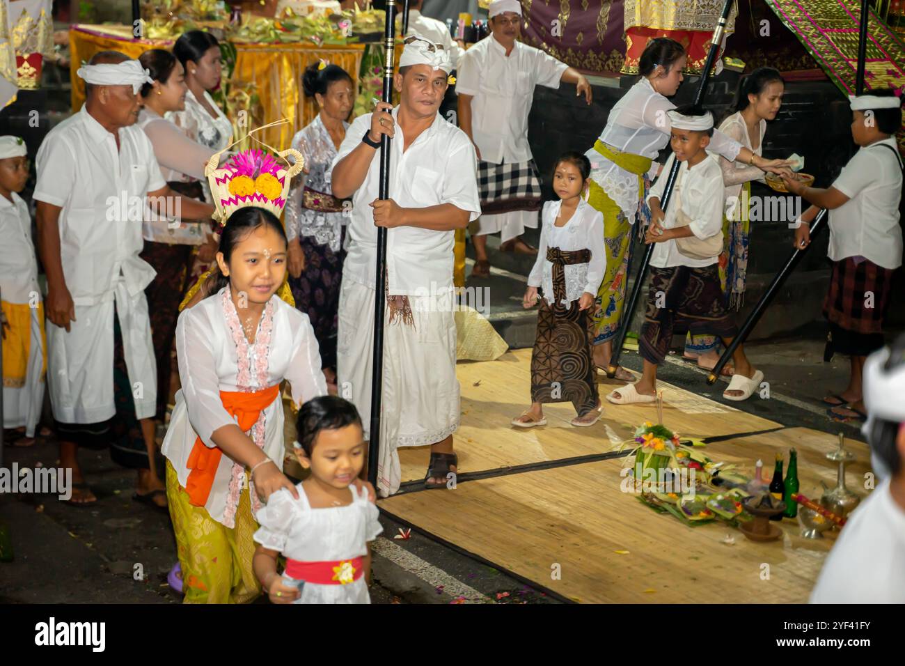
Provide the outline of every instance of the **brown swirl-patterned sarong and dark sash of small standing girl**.
<path id="1" fill-rule="evenodd" d="M 566 298 L 564 266 L 586 264 L 591 253 L 550 247 L 547 260 L 553 262 L 554 304 L 548 303 L 550 294 L 540 302 L 538 333 L 531 352 L 531 401 L 571 402 L 578 416 L 584 416 L 596 408 L 598 400 L 591 361 L 594 321 L 590 310 L 578 309 L 577 301 L 567 307 L 562 301 Z"/>

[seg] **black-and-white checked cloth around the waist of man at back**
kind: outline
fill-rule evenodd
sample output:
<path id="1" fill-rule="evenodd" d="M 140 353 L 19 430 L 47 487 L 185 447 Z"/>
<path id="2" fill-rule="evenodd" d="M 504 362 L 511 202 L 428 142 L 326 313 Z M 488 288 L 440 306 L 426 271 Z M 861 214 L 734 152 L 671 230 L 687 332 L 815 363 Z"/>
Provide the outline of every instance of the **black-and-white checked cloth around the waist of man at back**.
<path id="1" fill-rule="evenodd" d="M 534 159 L 494 164 L 478 160 L 481 213 L 497 215 L 516 210 L 540 210 L 540 179 Z"/>

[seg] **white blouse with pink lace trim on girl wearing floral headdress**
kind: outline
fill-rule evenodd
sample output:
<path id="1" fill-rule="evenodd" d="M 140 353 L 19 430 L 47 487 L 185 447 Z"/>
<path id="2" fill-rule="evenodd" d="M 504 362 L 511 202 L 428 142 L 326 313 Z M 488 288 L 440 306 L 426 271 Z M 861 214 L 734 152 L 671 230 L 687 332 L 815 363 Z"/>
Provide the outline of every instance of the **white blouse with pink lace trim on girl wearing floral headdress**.
<path id="1" fill-rule="evenodd" d="M 220 391 L 261 391 L 286 380 L 297 406 L 327 394 L 318 340 L 308 315 L 275 294 L 264 308 L 253 344 L 245 339 L 229 287 L 184 310 L 176 323 L 176 357 L 182 389 L 176 392 L 162 450 L 182 487 L 186 487 L 195 438 L 213 449 L 214 431 L 236 422 L 224 408 Z M 282 468 L 283 406 L 279 396 L 262 411 L 262 420 L 249 435 Z M 244 482 L 244 470 L 224 453 L 205 504 L 214 520 L 233 526 Z M 257 504 L 252 493 L 252 510 L 257 510 Z"/>

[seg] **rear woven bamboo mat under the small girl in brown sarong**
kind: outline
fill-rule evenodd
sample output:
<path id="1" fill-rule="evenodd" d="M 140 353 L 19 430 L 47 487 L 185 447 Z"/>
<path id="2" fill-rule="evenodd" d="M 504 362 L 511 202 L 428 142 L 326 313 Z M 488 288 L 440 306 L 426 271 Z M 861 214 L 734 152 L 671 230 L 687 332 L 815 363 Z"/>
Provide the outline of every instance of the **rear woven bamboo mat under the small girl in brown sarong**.
<path id="1" fill-rule="evenodd" d="M 604 453 L 631 436 L 644 420 L 656 420 L 654 405 L 614 405 L 604 401 L 604 418 L 590 428 L 575 428 L 571 403 L 544 406 L 548 425 L 515 428 L 510 420 L 530 406 L 531 350 L 505 353 L 496 361 L 461 362 L 462 425 L 455 435 L 461 473 Z M 624 385 L 600 384 L 601 396 Z M 776 421 L 661 382 L 663 420 L 688 436 L 719 436 L 781 428 Z M 399 449 L 402 479 L 424 478 L 430 447 Z"/>

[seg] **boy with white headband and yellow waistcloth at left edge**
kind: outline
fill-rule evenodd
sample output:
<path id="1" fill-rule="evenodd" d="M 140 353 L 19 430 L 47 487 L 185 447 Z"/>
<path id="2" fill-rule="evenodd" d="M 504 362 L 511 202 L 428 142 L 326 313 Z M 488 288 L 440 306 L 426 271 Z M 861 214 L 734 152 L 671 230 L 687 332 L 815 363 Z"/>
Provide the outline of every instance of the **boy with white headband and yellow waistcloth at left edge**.
<path id="1" fill-rule="evenodd" d="M 44 400 L 44 306 L 32 217 L 17 192 L 28 180 L 25 142 L 0 137 L 0 305 L 3 318 L 3 427 L 23 429 L 14 446 L 34 443 Z"/>

